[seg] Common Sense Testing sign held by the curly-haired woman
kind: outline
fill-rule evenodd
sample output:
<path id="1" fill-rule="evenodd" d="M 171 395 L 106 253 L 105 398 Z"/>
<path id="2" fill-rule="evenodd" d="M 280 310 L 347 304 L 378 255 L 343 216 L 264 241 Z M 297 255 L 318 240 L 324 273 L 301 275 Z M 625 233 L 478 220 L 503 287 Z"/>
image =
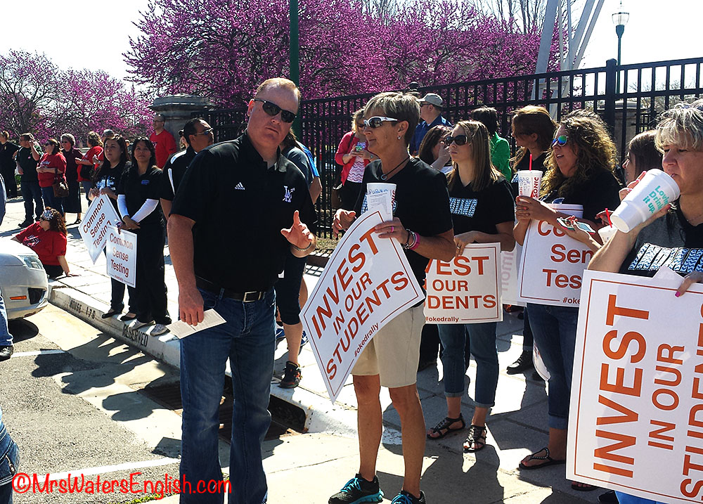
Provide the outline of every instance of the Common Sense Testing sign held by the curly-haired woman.
<path id="1" fill-rule="evenodd" d="M 581 205 L 550 205 L 581 217 Z M 585 244 L 546 221 L 531 221 L 520 259 L 520 291 L 524 301 L 553 306 L 579 306 L 583 270 L 593 257 Z"/>

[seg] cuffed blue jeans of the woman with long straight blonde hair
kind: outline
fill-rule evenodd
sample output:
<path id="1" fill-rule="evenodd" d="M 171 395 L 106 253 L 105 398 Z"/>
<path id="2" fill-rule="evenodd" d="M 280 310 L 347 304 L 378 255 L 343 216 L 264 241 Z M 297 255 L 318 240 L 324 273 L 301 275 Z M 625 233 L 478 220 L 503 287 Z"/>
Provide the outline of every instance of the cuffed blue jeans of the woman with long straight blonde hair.
<path id="1" fill-rule="evenodd" d="M 464 347 L 468 337 L 469 347 L 476 361 L 476 406 L 494 406 L 498 387 L 496 323 L 437 325 L 439 340 L 444 348 L 441 356 L 444 368 L 444 395 L 461 397 L 464 394 Z"/>

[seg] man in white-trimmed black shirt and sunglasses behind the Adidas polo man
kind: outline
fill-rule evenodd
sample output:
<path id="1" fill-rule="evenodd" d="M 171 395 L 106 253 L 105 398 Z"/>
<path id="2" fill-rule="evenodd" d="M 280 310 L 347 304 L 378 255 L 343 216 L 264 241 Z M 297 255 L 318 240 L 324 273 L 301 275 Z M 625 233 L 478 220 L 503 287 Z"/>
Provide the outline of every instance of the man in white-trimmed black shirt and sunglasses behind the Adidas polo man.
<path id="1" fill-rule="evenodd" d="M 161 177 L 159 198 L 161 200 L 161 208 L 167 219 L 171 213 L 174 195 L 176 190 L 178 190 L 181 179 L 183 179 L 183 175 L 186 174 L 188 164 L 191 164 L 197 153 L 208 146 L 212 146 L 212 143 L 214 143 L 212 128 L 202 117 L 186 122 L 186 125 L 183 126 L 183 139 L 188 144 L 188 148 L 175 153 L 169 158 L 164 167 L 164 176 Z"/>

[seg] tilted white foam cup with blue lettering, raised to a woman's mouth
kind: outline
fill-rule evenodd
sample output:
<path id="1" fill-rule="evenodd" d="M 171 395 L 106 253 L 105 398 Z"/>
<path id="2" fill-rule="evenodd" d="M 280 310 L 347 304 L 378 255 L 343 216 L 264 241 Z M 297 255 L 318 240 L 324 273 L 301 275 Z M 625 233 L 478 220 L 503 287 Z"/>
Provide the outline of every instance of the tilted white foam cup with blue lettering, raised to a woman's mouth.
<path id="1" fill-rule="evenodd" d="M 679 195 L 681 190 L 671 176 L 650 169 L 610 215 L 610 221 L 619 231 L 629 233 Z"/>

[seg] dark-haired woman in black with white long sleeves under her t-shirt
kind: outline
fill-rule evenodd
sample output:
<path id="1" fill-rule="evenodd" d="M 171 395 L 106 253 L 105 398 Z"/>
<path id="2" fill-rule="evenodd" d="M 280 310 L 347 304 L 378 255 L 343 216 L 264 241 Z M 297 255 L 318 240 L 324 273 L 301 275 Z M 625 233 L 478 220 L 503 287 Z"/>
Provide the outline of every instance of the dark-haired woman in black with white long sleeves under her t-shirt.
<path id="1" fill-rule="evenodd" d="M 161 170 L 156 166 L 156 150 L 148 138 L 132 144 L 131 167 L 124 171 L 117 185 L 117 207 L 122 228 L 136 233 L 136 322 L 138 329 L 155 323 L 152 336 L 168 331 L 169 318 L 164 246 L 166 227 L 159 207 Z"/>

